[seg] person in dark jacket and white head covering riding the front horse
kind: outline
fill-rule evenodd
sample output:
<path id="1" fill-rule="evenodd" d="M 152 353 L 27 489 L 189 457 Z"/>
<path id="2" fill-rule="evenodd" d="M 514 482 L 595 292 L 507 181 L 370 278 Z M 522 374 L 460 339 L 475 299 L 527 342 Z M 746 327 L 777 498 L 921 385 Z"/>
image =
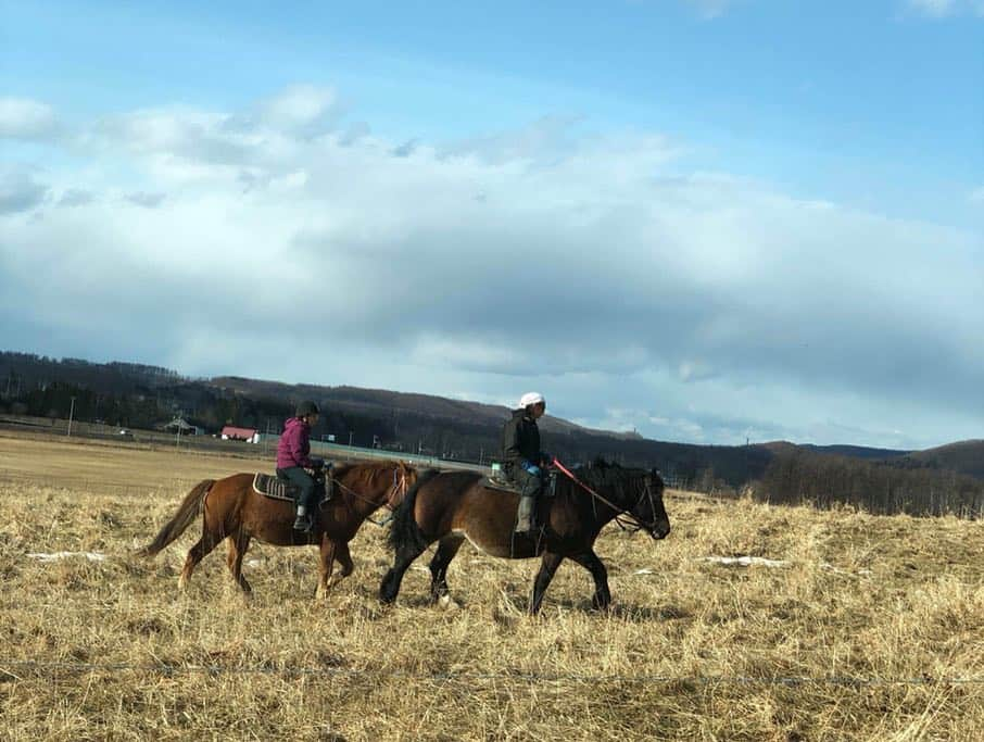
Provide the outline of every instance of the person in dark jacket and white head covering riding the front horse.
<path id="1" fill-rule="evenodd" d="M 546 412 L 542 394 L 529 392 L 519 400 L 519 410 L 506 422 L 502 431 L 503 471 L 520 491 L 516 532 L 527 533 L 532 524 L 537 495 L 543 488 L 543 469 L 550 455 L 540 450 L 540 428 L 537 419 Z"/>

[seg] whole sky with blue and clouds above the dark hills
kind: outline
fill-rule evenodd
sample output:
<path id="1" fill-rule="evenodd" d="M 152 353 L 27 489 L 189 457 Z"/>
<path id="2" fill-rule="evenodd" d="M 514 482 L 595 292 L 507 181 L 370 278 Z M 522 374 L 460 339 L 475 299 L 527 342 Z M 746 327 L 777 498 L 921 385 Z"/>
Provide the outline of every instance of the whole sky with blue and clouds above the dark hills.
<path id="1" fill-rule="evenodd" d="M 530 4 L 0 4 L 0 344 L 487 401 L 535 385 L 559 415 L 671 440 L 981 436 L 961 399 L 984 370 L 964 347 L 984 328 L 984 2 Z M 351 340 L 331 370 L 294 357 L 293 315 L 267 324 L 273 297 L 189 339 L 151 289 L 204 286 L 192 259 L 225 242 L 261 274 L 268 255 L 344 275 L 359 305 L 379 301 L 369 252 L 411 309 L 315 310 Z M 83 250 L 160 280 L 31 290 L 29 254 Z M 433 273 L 467 288 L 434 297 Z M 286 361 L 243 365 L 257 342 Z"/>

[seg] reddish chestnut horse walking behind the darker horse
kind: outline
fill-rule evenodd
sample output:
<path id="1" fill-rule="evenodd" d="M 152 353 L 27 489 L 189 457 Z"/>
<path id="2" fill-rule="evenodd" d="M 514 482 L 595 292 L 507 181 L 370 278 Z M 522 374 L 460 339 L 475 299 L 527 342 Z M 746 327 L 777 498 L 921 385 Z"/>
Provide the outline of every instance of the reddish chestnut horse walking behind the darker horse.
<path id="1" fill-rule="evenodd" d="M 206 479 L 185 496 L 175 516 L 138 555 L 157 554 L 202 513 L 202 538 L 188 551 L 179 588 L 188 583 L 195 565 L 228 538 L 229 571 L 242 591 L 250 592 L 250 583 L 242 576 L 242 557 L 250 540 L 256 539 L 276 546 L 319 546 L 320 578 L 316 594 L 324 598 L 331 587 L 352 574 L 349 541 L 358 527 L 381 505 L 395 507 L 417 480 L 417 470 L 402 462 L 346 464 L 332 469 L 331 478 L 336 493 L 321 503 L 310 533 L 293 530 L 292 502 L 274 500 L 253 490 L 252 474 L 234 474 L 217 481 Z M 336 561 L 342 570 L 332 577 Z"/>

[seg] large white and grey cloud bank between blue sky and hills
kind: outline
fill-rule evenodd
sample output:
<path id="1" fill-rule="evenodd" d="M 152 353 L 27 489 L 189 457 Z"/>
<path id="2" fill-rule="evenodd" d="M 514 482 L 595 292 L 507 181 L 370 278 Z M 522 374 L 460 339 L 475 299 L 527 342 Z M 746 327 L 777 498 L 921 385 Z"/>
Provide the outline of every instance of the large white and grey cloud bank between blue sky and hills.
<path id="1" fill-rule="evenodd" d="M 980 425 L 979 237 L 681 175 L 684 147 L 576 122 L 395 156 L 329 126 L 332 97 L 292 90 L 109 118 L 76 138 L 77 172 L 11 180 L 7 342 L 62 335 L 38 350 L 191 374 L 538 388 L 594 427 L 708 442 L 929 444 Z"/>

